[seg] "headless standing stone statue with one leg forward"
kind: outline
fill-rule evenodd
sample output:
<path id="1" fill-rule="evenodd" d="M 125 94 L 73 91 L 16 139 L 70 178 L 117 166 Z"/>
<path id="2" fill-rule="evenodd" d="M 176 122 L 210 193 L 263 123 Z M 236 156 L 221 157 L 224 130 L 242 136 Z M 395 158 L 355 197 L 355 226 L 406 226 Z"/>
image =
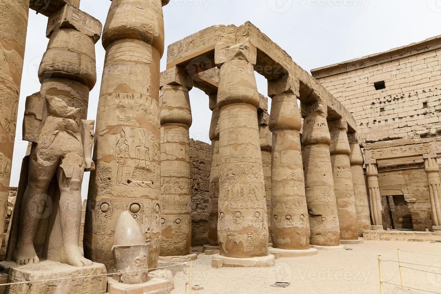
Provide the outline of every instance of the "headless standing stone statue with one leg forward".
<path id="1" fill-rule="evenodd" d="M 34 248 L 37 231 L 40 234 L 52 230 L 49 234 L 61 234 L 56 236 L 63 243 L 57 254 L 61 263 L 76 267 L 92 265 L 92 261 L 82 257 L 78 242 L 83 173 L 95 167 L 91 159 L 94 121 L 81 119 L 81 108 L 70 107 L 65 101 L 68 102 L 67 97 L 46 96 L 41 92 L 26 98 L 23 139 L 32 142 L 32 147 L 13 254 L 17 264 L 38 263 Z M 61 233 L 41 225 L 47 218 L 47 214 L 43 215 L 47 212 L 40 209 L 41 203 L 51 201 L 48 188 L 54 176 L 60 190 L 58 211 L 54 213 L 58 214 Z M 48 259 L 52 258 L 48 256 Z"/>

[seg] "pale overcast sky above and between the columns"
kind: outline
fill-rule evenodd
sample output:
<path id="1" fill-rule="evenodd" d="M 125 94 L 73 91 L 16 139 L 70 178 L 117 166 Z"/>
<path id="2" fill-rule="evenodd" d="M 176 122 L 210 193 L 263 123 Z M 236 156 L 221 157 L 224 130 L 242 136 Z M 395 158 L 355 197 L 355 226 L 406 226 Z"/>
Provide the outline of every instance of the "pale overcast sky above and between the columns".
<path id="1" fill-rule="evenodd" d="M 80 9 L 104 25 L 110 0 L 81 0 Z M 441 34 L 441 0 L 171 0 L 164 7 L 165 46 L 206 27 L 250 21 L 310 71 L 345 60 L 389 50 Z M 17 186 L 27 142 L 22 141 L 26 96 L 40 90 L 37 69 L 48 39 L 47 18 L 30 11 L 17 121 L 11 186 Z M 96 119 L 105 51 L 96 45 L 97 84 L 90 92 L 88 119 Z M 166 66 L 166 54 L 161 71 Z M 265 78 L 256 76 L 267 94 Z M 208 97 L 190 92 L 192 138 L 209 142 Z M 83 182 L 86 196 L 88 173 Z"/>

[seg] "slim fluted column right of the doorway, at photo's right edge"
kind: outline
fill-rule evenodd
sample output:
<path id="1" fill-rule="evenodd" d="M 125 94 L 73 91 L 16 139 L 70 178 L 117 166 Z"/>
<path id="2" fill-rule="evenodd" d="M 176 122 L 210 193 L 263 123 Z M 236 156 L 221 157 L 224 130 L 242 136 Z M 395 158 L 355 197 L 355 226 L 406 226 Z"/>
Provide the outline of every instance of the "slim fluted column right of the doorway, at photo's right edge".
<path id="1" fill-rule="evenodd" d="M 432 231 L 441 233 L 441 191 L 440 191 L 440 167 L 437 162 L 437 154 L 424 154 L 424 170 L 429 185 L 430 204 L 432 206 Z"/>

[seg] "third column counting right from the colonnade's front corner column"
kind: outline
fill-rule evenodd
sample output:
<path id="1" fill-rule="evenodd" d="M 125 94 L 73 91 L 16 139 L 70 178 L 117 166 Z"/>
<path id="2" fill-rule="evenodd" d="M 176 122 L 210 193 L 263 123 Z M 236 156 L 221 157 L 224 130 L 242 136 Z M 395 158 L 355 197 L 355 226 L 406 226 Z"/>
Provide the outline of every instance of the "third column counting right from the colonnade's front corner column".
<path id="1" fill-rule="evenodd" d="M 310 243 L 317 246 L 339 246 L 340 226 L 334 194 L 333 169 L 329 145 L 327 106 L 313 92 L 316 101 L 301 103 L 303 116 L 302 158 L 306 203 L 311 230 Z"/>

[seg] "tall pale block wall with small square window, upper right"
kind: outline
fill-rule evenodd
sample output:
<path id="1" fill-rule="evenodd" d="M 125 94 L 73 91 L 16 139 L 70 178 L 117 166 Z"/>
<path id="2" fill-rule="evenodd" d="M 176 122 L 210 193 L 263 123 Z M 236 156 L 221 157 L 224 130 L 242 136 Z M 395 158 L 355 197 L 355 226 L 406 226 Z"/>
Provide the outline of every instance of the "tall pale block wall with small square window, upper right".
<path id="1" fill-rule="evenodd" d="M 441 134 L 440 37 L 311 72 L 354 115 L 362 141 Z"/>

